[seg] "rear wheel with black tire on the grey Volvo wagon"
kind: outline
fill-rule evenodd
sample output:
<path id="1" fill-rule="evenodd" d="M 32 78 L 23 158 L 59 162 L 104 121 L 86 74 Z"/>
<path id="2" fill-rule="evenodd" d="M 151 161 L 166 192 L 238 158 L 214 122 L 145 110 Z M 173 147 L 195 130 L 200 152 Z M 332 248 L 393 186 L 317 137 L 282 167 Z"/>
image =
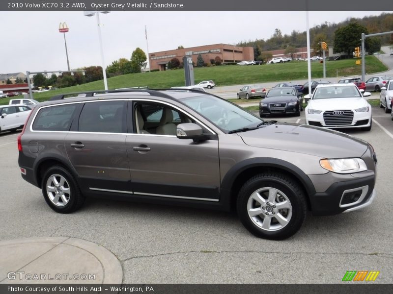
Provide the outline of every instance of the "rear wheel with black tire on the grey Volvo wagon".
<path id="1" fill-rule="evenodd" d="M 55 179 L 59 185 L 55 184 Z M 61 185 L 62 179 L 64 179 L 63 185 Z M 50 186 L 52 184 L 54 184 L 54 186 Z M 78 210 L 84 203 L 84 196 L 79 189 L 77 181 L 75 180 L 74 176 L 62 166 L 53 166 L 49 168 L 44 173 L 41 186 L 45 201 L 54 211 L 58 213 L 74 212 Z M 52 187 L 52 189 L 50 189 L 50 187 Z M 64 192 L 67 190 L 68 193 Z M 59 191 L 60 194 L 62 193 L 64 197 L 57 196 Z M 55 203 L 56 196 L 57 204 Z M 52 199 L 52 197 L 54 197 L 54 199 Z"/>

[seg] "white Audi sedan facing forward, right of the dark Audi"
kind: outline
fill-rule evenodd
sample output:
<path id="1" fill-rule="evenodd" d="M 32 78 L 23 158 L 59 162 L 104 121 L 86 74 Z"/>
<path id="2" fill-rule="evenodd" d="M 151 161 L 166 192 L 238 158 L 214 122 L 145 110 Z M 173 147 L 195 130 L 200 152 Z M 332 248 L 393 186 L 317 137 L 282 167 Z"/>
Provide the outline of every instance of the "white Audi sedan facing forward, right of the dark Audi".
<path id="1" fill-rule="evenodd" d="M 369 92 L 354 83 L 320 84 L 316 86 L 306 107 L 306 123 L 328 128 L 371 129 L 371 105 L 364 97 Z"/>

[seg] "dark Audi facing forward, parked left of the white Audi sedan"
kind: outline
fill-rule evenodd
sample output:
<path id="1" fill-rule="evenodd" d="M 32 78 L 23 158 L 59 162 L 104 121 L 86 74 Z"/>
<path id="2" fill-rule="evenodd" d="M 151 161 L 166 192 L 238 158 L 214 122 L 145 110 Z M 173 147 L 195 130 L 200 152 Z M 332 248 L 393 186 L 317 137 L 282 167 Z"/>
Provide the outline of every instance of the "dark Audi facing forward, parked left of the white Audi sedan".
<path id="1" fill-rule="evenodd" d="M 259 116 L 270 114 L 295 114 L 303 111 L 303 98 L 294 87 L 270 89 L 264 99 L 259 102 Z"/>

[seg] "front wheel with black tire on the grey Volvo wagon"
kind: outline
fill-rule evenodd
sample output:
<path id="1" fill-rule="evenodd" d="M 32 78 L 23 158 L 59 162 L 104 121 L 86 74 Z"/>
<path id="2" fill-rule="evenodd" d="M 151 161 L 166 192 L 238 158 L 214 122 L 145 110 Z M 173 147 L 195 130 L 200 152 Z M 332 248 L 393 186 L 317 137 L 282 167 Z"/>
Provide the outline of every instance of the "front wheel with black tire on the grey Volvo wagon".
<path id="1" fill-rule="evenodd" d="M 264 198 L 266 197 L 264 190 L 270 191 L 269 189 L 277 190 L 275 200 L 272 202 L 268 202 L 270 200 Z M 259 195 L 263 196 L 262 198 L 265 201 L 267 200 L 263 202 L 264 204 L 259 204 L 253 200 L 252 196 L 257 191 Z M 286 202 L 282 202 L 282 199 Z M 290 206 L 288 209 L 279 209 L 275 206 L 275 204 L 279 203 L 286 203 L 288 205 L 288 202 Z M 252 219 L 249 215 L 248 205 L 250 207 L 259 205 L 259 207 L 253 209 L 259 208 L 261 212 L 264 209 L 266 212 L 254 215 Z M 265 214 L 269 214 L 267 211 L 271 211 L 269 216 L 265 216 Z M 270 240 L 282 240 L 294 235 L 305 221 L 307 214 L 306 196 L 299 184 L 289 176 L 279 172 L 265 172 L 253 176 L 240 189 L 237 198 L 237 213 L 243 225 L 255 236 Z M 261 218 L 262 216 L 263 219 Z M 287 222 L 282 225 L 281 222 L 277 221 L 278 219 L 275 216 L 283 217 Z M 268 220 L 268 218 L 271 219 L 271 221 L 268 221 L 269 227 L 273 222 L 272 228 L 264 229 L 262 228 L 264 220 Z M 259 224 L 257 225 L 256 223 Z"/>

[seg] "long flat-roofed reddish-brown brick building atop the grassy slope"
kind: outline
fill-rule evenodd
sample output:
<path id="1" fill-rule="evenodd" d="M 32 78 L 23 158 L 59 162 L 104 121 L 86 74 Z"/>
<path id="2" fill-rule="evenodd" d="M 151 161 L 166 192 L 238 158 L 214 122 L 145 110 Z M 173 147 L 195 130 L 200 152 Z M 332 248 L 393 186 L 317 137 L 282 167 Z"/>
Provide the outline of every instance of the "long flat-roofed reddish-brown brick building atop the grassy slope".
<path id="1" fill-rule="evenodd" d="M 224 63 L 254 60 L 253 47 L 214 44 L 149 53 L 150 70 L 165 71 L 168 62 L 172 58 L 177 58 L 182 62 L 184 56 L 191 57 L 197 64 L 197 57 L 199 54 L 202 56 L 205 63 L 210 63 L 210 60 L 215 59 L 216 56 L 219 56 Z"/>

